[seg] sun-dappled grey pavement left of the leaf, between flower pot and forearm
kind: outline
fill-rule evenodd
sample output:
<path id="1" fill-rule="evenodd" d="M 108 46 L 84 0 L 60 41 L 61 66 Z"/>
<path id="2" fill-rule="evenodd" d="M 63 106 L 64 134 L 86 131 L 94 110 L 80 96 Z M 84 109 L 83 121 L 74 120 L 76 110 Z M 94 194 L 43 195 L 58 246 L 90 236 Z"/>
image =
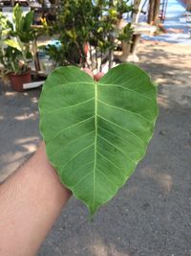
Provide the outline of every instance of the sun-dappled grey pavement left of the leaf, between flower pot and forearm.
<path id="1" fill-rule="evenodd" d="M 16 93 L 0 84 L 0 181 L 36 150 L 39 93 L 40 90 Z"/>

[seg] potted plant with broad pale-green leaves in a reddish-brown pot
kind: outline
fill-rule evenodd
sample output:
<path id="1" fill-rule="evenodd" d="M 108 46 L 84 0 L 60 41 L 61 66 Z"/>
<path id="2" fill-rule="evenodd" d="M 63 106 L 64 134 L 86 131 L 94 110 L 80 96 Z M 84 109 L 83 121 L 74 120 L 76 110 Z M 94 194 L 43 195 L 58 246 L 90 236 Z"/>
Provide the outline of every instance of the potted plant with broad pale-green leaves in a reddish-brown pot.
<path id="1" fill-rule="evenodd" d="M 24 91 L 23 83 L 31 81 L 29 62 L 32 60 L 31 42 L 33 12 L 24 14 L 19 5 L 13 9 L 12 22 L 0 14 L 0 61 L 3 74 L 8 75 L 15 91 Z"/>

